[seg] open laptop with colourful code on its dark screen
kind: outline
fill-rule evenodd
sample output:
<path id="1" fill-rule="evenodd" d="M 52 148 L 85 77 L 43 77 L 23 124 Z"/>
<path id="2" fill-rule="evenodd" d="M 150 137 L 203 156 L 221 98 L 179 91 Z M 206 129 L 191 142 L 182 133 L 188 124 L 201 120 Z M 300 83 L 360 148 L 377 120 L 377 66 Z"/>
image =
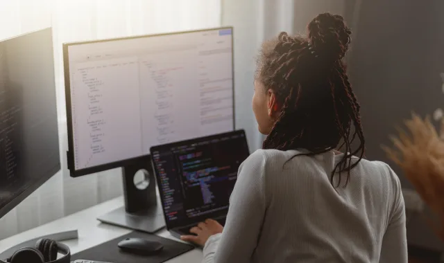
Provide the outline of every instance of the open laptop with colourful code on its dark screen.
<path id="1" fill-rule="evenodd" d="M 250 155 L 244 130 L 151 147 L 167 230 L 174 237 L 205 219 L 225 225 L 239 165 Z"/>

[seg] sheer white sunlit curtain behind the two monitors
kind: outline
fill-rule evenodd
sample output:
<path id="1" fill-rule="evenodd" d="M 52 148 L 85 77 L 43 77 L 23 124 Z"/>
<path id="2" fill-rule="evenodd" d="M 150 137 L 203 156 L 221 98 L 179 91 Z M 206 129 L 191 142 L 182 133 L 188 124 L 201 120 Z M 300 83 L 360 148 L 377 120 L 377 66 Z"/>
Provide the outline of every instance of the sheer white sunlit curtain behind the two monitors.
<path id="1" fill-rule="evenodd" d="M 0 219 L 0 239 L 122 194 L 121 170 L 77 179 L 67 170 L 62 43 L 221 25 L 220 0 L 0 1 L 0 39 L 53 27 L 62 170 Z"/>

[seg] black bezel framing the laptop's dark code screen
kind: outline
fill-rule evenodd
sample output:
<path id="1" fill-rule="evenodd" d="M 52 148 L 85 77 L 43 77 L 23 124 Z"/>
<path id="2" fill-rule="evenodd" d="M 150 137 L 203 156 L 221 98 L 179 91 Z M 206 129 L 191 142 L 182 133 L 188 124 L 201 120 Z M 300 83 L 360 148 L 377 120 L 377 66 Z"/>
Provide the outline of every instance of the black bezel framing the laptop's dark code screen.
<path id="1" fill-rule="evenodd" d="M 198 137 L 198 138 L 191 138 L 189 140 L 181 140 L 175 143 L 167 143 L 164 145 L 156 145 L 156 146 L 152 146 L 150 148 L 150 154 L 152 152 L 157 152 L 157 151 L 161 151 L 163 149 L 171 149 L 171 147 L 174 146 L 182 146 L 182 145 L 189 145 L 192 143 L 198 143 L 200 141 L 203 140 L 211 140 L 213 138 L 221 138 L 223 136 L 229 136 L 229 135 L 244 135 L 244 140 L 246 140 L 246 148 L 247 148 L 247 152 L 248 155 L 250 154 L 250 149 L 248 147 L 248 143 L 247 143 L 247 137 L 246 137 L 246 133 L 244 129 L 235 129 L 234 131 L 228 131 L 228 132 L 223 132 L 221 134 L 214 134 L 214 135 L 210 135 L 210 136 L 204 136 L 204 137 Z M 153 156 L 151 156 L 151 163 L 153 165 L 153 170 L 154 170 L 154 174 L 155 174 L 155 179 L 157 182 L 160 181 L 160 175 L 159 175 L 159 171 L 157 170 L 157 168 L 155 167 L 155 161 Z M 187 218 L 187 219 L 183 219 L 182 221 L 168 221 L 167 219 L 167 215 L 165 212 L 165 207 L 163 205 L 164 203 L 164 191 L 162 190 L 162 187 L 160 187 L 159 183 L 157 183 L 157 190 L 159 191 L 159 195 L 160 195 L 160 201 L 162 202 L 162 213 L 164 216 L 164 220 L 165 220 L 165 225 L 167 226 L 167 230 L 171 230 L 173 228 L 178 228 L 178 227 L 184 227 L 190 224 L 195 224 L 198 221 L 205 221 L 205 219 L 207 218 L 217 218 L 217 217 L 222 217 L 222 216 L 226 216 L 227 212 L 228 212 L 228 207 L 221 209 L 221 210 L 217 210 L 216 212 L 210 212 L 208 214 L 205 215 L 200 215 L 198 217 L 194 217 L 194 218 Z"/>

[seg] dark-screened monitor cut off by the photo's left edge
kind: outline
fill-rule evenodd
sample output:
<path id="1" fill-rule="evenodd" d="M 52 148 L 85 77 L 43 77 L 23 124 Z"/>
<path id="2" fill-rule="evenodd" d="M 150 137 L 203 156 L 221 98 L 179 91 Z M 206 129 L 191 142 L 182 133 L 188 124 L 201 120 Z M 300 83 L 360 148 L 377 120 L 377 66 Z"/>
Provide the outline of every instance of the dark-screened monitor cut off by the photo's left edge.
<path id="1" fill-rule="evenodd" d="M 51 28 L 0 42 L 0 217 L 60 170 Z"/>

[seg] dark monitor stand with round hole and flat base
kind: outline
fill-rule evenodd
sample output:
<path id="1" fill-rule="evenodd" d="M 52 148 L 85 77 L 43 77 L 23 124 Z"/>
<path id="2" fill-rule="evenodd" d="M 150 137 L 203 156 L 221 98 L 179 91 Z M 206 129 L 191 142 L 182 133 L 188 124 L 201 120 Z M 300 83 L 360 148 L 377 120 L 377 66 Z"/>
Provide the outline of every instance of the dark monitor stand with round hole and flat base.
<path id="1" fill-rule="evenodd" d="M 160 202 L 157 202 L 151 156 L 137 158 L 122 167 L 122 176 L 125 206 L 102 215 L 98 220 L 146 233 L 155 233 L 164 228 L 164 215 Z"/>

